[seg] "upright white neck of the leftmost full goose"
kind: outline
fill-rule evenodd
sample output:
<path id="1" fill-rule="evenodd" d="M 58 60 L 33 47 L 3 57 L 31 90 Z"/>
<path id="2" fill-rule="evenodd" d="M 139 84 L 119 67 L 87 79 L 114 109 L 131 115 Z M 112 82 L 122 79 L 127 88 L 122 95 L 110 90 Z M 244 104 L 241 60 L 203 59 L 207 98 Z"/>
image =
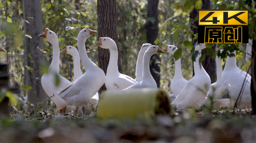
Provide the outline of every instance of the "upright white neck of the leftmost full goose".
<path id="1" fill-rule="evenodd" d="M 60 72 L 60 48 L 59 48 L 59 42 L 58 40 L 55 42 L 52 42 L 52 48 L 53 48 L 53 55 L 52 55 L 52 63 L 49 66 L 49 69 L 51 71 L 54 71 L 56 73 Z"/>

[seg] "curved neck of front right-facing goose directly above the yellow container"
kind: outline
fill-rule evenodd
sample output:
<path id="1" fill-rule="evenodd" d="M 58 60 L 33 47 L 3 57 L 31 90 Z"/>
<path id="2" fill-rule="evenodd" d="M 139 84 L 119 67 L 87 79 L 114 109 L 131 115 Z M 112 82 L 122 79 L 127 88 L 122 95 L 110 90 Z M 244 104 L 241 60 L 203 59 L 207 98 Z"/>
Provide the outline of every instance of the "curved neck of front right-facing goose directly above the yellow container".
<path id="1" fill-rule="evenodd" d="M 151 56 L 152 56 L 152 54 L 147 53 L 147 52 L 143 56 L 143 76 L 142 76 L 142 80 L 148 79 L 148 78 L 153 79 L 153 77 L 150 73 L 150 70 L 149 70 L 149 61 L 150 61 Z"/>

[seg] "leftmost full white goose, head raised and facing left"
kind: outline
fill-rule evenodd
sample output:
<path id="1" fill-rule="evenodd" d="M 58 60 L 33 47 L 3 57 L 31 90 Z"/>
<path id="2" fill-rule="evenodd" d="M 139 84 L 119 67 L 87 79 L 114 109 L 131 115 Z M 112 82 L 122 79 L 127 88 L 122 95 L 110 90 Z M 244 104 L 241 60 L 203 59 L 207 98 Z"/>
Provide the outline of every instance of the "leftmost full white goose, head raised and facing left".
<path id="1" fill-rule="evenodd" d="M 60 75 L 60 48 L 58 42 L 58 36 L 50 31 L 48 28 L 45 29 L 45 33 L 40 34 L 39 37 L 45 38 L 46 41 L 50 42 L 53 47 L 53 56 L 52 56 L 52 63 L 49 66 L 48 73 L 43 74 L 41 83 L 43 89 L 45 90 L 46 94 L 52 97 L 52 101 L 56 104 L 58 108 L 60 108 L 60 112 L 65 114 L 67 104 L 66 102 L 56 95 L 57 92 L 65 89 L 67 86 L 71 84 L 71 82 L 65 79 L 63 76 Z M 56 85 L 55 77 L 58 76 L 60 78 L 60 83 Z M 71 108 L 71 107 L 70 107 Z"/>

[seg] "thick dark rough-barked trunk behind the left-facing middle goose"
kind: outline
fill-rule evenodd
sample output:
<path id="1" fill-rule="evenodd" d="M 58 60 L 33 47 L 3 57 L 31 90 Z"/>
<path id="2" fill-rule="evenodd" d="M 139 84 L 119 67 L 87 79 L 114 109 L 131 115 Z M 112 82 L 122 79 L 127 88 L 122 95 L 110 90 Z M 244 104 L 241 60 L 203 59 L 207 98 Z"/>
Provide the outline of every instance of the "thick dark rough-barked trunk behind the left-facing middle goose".
<path id="1" fill-rule="evenodd" d="M 118 70 L 122 73 L 116 28 L 116 0 L 97 0 L 97 14 L 98 38 L 109 37 L 116 42 L 118 48 Z M 98 47 L 98 66 L 105 72 L 105 74 L 107 73 L 109 58 L 109 49 Z M 106 90 L 105 84 L 100 88 L 99 92 L 101 93 L 101 91 L 104 90 Z"/>

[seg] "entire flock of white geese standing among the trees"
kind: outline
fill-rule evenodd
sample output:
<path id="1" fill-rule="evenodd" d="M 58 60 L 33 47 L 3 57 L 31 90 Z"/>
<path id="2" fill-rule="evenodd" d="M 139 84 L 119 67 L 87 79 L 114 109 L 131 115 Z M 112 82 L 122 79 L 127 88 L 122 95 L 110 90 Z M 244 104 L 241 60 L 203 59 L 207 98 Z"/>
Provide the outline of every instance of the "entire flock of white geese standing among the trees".
<path id="1" fill-rule="evenodd" d="M 50 42 L 53 47 L 52 62 L 48 73 L 42 76 L 42 86 L 49 97 L 54 96 L 51 99 L 63 114 L 66 113 L 66 109 L 75 108 L 75 113 L 79 110 L 83 114 L 86 111 L 95 109 L 99 100 L 98 90 L 104 83 L 107 90 L 156 89 L 156 82 L 149 70 L 150 57 L 153 54 L 165 52 L 173 55 L 177 50 L 177 47 L 174 45 L 167 45 L 161 50 L 158 46 L 143 44 L 137 58 L 136 78 L 133 79 L 118 71 L 118 49 L 115 41 L 108 37 L 101 37 L 93 46 L 100 46 L 110 51 L 109 65 L 105 75 L 104 71 L 89 59 L 85 50 L 86 40 L 95 33 L 97 31 L 93 31 L 88 27 L 79 32 L 77 36 L 79 52 L 73 46 L 66 46 L 60 52 L 58 36 L 48 28 L 45 29 L 43 34 L 39 35 L 39 37 L 45 38 L 46 41 Z M 217 81 L 211 84 L 209 75 L 204 70 L 204 67 L 199 64 L 201 51 L 204 48 L 206 48 L 205 44 L 195 46 L 195 51 L 198 51 L 199 54 L 194 61 L 195 76 L 189 81 L 182 76 L 180 58 L 175 61 L 174 77 L 170 85 L 173 92 L 170 95 L 171 105 L 181 110 L 199 108 L 202 105 L 210 105 L 211 101 L 214 101 L 214 104 L 220 107 L 232 107 L 240 94 L 240 90 L 242 90 L 240 107 L 250 107 L 252 100 L 250 92 L 252 77 L 237 67 L 235 57 L 227 57 L 225 68 L 222 71 L 222 59 L 216 57 Z M 67 53 L 73 57 L 73 83 L 59 74 L 60 53 Z M 235 51 L 232 53 L 235 54 Z M 84 74 L 82 74 L 80 69 L 80 58 L 86 71 Z M 55 76 L 60 77 L 58 85 L 55 83 Z M 229 96 L 224 95 L 227 91 Z"/>

